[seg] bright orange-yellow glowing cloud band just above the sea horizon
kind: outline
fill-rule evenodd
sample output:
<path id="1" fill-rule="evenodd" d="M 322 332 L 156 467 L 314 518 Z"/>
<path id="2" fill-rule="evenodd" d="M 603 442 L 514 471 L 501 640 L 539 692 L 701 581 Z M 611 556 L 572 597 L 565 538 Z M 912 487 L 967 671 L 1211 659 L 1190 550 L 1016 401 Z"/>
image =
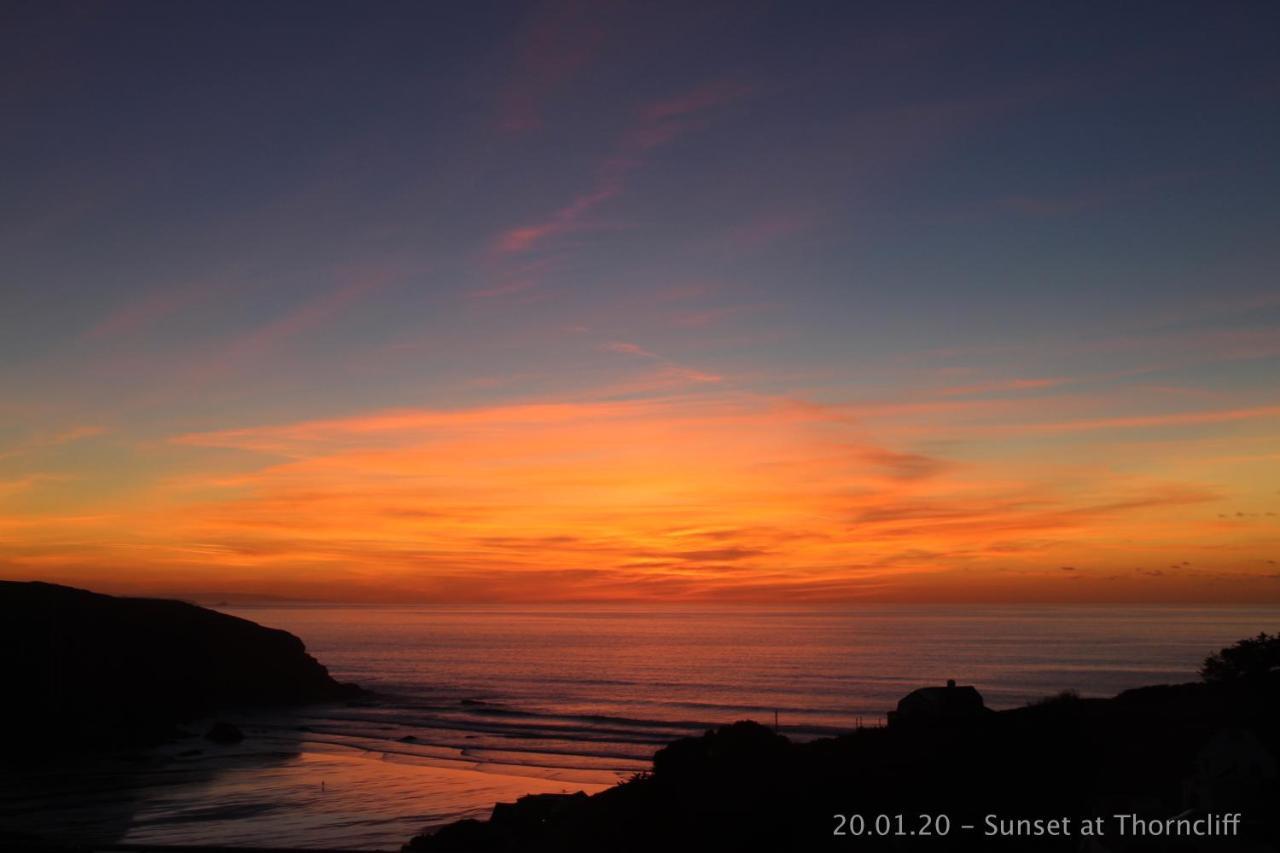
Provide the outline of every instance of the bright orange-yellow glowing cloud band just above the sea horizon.
<path id="1" fill-rule="evenodd" d="M 936 411 L 717 389 L 201 432 L 169 442 L 191 455 L 180 479 L 108 514 L 12 517 L 0 537 L 27 546 L 10 562 L 82 581 L 109 566 L 125 584 L 348 599 L 804 602 L 1106 598 L 1222 532 L 1213 485 L 887 438 Z M 1046 569 L 1064 564 L 1082 570 Z"/>

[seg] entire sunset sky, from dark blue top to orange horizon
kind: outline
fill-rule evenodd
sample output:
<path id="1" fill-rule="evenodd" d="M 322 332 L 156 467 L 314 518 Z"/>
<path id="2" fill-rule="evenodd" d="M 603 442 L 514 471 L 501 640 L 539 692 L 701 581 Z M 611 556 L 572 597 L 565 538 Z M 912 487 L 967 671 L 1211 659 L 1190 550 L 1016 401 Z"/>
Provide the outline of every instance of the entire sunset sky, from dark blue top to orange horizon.
<path id="1" fill-rule="evenodd" d="M 6 3 L 0 576 L 1280 602 L 1272 3 Z"/>

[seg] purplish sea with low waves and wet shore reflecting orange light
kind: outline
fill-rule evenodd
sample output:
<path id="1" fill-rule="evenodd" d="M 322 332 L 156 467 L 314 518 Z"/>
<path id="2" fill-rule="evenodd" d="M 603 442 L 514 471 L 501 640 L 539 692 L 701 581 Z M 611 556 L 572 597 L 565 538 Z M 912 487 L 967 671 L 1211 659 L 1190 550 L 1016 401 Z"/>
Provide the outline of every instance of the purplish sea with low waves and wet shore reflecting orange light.
<path id="1" fill-rule="evenodd" d="M 1280 628 L 1277 608 L 227 610 L 297 634 L 378 699 L 238 717 L 239 747 L 184 742 L 0 806 L 109 840 L 394 849 L 498 799 L 598 790 L 709 726 L 777 713 L 819 738 L 948 678 L 995 708 L 1111 695 L 1192 680 L 1207 653 Z"/>

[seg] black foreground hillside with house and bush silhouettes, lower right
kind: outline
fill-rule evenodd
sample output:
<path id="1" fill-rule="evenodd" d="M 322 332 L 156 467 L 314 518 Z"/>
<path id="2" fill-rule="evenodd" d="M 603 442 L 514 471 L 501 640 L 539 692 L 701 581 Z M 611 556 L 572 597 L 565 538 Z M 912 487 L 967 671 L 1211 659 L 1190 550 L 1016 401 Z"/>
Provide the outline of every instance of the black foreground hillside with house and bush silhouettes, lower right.
<path id="1" fill-rule="evenodd" d="M 1000 712 L 969 690 L 925 688 L 887 727 L 809 743 L 736 722 L 676 740 L 652 772 L 593 797 L 525 797 L 488 821 L 420 835 L 404 852 L 1280 849 L 1280 672 L 1110 699 L 1064 693 Z M 1239 836 L 1121 836 L 1111 818 L 1225 812 L 1243 815 Z M 852 815 L 868 830 L 856 838 Z M 895 816 L 890 835 L 874 831 L 879 815 Z M 1076 827 L 1105 816 L 1110 831 L 988 838 L 988 815 L 1070 817 Z M 933 818 L 929 835 L 922 816 Z M 937 816 L 947 818 L 945 835 Z"/>

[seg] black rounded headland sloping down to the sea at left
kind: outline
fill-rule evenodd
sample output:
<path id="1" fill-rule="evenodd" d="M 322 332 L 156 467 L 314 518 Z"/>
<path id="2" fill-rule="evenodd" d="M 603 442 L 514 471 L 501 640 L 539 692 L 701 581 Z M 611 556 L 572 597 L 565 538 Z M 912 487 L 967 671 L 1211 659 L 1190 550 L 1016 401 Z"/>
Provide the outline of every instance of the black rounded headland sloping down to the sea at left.
<path id="1" fill-rule="evenodd" d="M 5 757 L 137 745 L 219 708 L 352 698 L 288 631 L 180 601 L 0 581 Z"/>

